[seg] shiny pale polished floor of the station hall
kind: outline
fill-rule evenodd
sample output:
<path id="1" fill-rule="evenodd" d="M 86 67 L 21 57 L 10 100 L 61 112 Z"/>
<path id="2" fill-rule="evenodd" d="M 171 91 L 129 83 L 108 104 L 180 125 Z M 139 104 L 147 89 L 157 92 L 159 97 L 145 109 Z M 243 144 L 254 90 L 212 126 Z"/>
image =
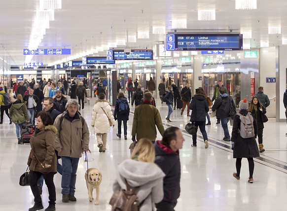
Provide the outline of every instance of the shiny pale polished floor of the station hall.
<path id="1" fill-rule="evenodd" d="M 92 107 L 86 105 L 81 111 L 90 125 Z M 171 115 L 173 122 L 167 123 L 165 117 L 168 107 L 157 100 L 164 127 L 178 126 L 184 133 L 185 142 L 180 150 L 181 194 L 176 211 L 286 211 L 287 208 L 287 125 L 286 122 L 275 122 L 270 119 L 265 123 L 263 144 L 265 152 L 255 159 L 254 183 L 247 182 L 249 177 L 247 159 L 243 159 L 241 179 L 236 180 L 235 159 L 232 156 L 230 143 L 221 141 L 223 130 L 216 125 L 206 126 L 209 148 L 199 132 L 196 148 L 190 146 L 191 136 L 186 134 L 184 126 L 189 120 L 186 111 L 180 116 L 180 110 Z M 134 107 L 131 107 L 131 111 Z M 267 109 L 268 112 L 268 109 Z M 61 175 L 54 177 L 57 193 L 56 210 L 58 211 L 108 211 L 108 201 L 112 195 L 112 182 L 116 167 L 130 155 L 131 126 L 133 112 L 128 121 L 128 140 L 116 137 L 117 125 L 108 134 L 106 153 L 99 153 L 94 129 L 90 129 L 89 167 L 100 169 L 103 174 L 100 191 L 100 205 L 88 200 L 84 174 L 86 163 L 80 159 L 75 197 L 77 202 L 62 203 Z M 231 133 L 231 126 L 229 126 Z M 158 135 L 157 139 L 161 137 Z M 27 167 L 30 145 L 17 144 L 15 125 L 9 125 L 7 116 L 0 125 L 0 211 L 28 211 L 33 206 L 34 197 L 29 186 L 19 186 L 19 177 Z M 94 191 L 95 194 L 95 191 Z M 94 195 L 95 198 L 95 195 Z M 47 188 L 43 186 L 43 205 L 48 206 Z"/>

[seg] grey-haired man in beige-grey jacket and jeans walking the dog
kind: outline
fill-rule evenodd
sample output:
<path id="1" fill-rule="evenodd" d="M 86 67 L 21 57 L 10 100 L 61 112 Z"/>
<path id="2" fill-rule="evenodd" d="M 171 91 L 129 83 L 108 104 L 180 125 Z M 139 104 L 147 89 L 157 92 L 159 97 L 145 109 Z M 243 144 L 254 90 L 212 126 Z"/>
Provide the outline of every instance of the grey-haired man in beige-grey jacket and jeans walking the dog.
<path id="1" fill-rule="evenodd" d="M 66 104 L 66 111 L 57 116 L 54 126 L 56 150 L 62 158 L 62 202 L 76 201 L 74 197 L 76 172 L 79 158 L 83 151 L 89 151 L 89 129 L 85 119 L 78 112 L 79 105 L 71 99 Z"/>

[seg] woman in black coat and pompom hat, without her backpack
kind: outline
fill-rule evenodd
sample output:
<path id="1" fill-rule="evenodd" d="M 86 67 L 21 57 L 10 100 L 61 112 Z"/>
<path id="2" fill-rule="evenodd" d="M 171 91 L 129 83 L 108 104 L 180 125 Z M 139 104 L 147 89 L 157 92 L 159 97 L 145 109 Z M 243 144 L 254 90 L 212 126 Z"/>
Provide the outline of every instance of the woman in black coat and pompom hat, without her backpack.
<path id="1" fill-rule="evenodd" d="M 248 102 L 246 99 L 239 102 L 239 113 L 242 115 L 248 114 Z M 254 171 L 254 161 L 253 157 L 259 157 L 259 151 L 256 144 L 256 136 L 257 136 L 257 123 L 256 119 L 253 118 L 253 128 L 254 128 L 254 137 L 251 138 L 242 138 L 239 130 L 240 130 L 240 116 L 234 115 L 233 119 L 233 127 L 232 127 L 232 136 L 231 136 L 231 145 L 233 149 L 233 158 L 236 158 L 236 173 L 233 173 L 233 176 L 236 179 L 240 179 L 240 169 L 241 169 L 241 160 L 242 158 L 247 158 L 249 163 L 249 179 L 248 182 L 253 182 L 253 171 Z"/>

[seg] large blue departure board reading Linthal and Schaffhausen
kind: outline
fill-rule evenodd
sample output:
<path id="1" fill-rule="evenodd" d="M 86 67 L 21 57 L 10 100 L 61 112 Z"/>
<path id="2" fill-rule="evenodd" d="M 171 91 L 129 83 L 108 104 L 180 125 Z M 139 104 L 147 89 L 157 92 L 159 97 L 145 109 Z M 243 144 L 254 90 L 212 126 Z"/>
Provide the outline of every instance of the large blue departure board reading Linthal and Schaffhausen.
<path id="1" fill-rule="evenodd" d="M 242 50 L 241 34 L 167 34 L 167 50 Z"/>

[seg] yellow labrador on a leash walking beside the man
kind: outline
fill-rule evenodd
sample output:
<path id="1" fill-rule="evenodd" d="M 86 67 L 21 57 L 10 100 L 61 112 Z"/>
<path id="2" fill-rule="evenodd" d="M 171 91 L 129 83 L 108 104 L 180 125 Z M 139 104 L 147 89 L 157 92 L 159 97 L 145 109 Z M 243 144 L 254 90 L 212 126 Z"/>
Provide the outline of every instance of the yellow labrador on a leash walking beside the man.
<path id="1" fill-rule="evenodd" d="M 89 168 L 85 174 L 86 184 L 89 193 L 89 201 L 93 201 L 93 190 L 96 189 L 96 202 L 99 205 L 100 184 L 102 182 L 102 173 L 96 168 Z"/>

